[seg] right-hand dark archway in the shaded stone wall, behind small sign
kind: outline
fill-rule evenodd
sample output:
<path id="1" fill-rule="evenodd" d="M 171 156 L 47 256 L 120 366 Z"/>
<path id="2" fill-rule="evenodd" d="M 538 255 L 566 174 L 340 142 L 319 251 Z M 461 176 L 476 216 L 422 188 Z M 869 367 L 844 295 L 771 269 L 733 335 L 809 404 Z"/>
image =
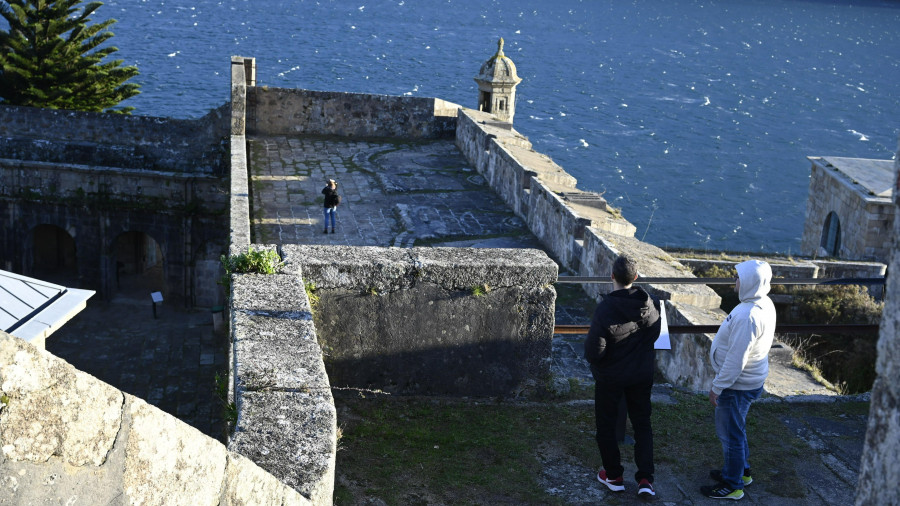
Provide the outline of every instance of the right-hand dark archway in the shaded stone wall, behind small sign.
<path id="1" fill-rule="evenodd" d="M 113 246 L 115 289 L 123 295 L 149 297 L 166 294 L 163 254 L 159 244 L 143 232 L 125 232 Z"/>

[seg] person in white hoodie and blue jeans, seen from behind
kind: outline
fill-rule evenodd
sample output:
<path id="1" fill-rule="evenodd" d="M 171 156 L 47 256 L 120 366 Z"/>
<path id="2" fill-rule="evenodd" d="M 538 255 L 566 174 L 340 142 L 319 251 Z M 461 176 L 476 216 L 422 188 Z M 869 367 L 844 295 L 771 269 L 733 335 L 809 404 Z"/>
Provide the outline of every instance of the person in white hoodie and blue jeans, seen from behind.
<path id="1" fill-rule="evenodd" d="M 709 473 L 719 483 L 700 488 L 707 497 L 732 500 L 744 497 L 744 486 L 753 481 L 747 412 L 762 394 L 775 338 L 775 306 L 768 297 L 772 268 L 766 262 L 748 260 L 736 269 L 734 290 L 740 303 L 719 327 L 709 350 L 716 371 L 709 402 L 716 407 L 716 435 L 722 442 L 725 463 L 721 470 Z"/>

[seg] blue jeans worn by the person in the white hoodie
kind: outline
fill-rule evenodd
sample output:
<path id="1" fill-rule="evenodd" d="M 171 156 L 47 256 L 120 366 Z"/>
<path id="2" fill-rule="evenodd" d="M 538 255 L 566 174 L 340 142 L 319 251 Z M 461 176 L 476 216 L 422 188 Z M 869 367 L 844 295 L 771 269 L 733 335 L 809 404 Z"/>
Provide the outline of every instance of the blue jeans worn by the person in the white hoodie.
<path id="1" fill-rule="evenodd" d="M 762 394 L 763 387 L 756 390 L 732 390 L 726 388 L 719 395 L 716 406 L 716 435 L 722 442 L 725 465 L 722 478 L 735 489 L 743 489 L 741 476 L 750 468 L 750 445 L 747 444 L 747 412 L 750 403 Z"/>

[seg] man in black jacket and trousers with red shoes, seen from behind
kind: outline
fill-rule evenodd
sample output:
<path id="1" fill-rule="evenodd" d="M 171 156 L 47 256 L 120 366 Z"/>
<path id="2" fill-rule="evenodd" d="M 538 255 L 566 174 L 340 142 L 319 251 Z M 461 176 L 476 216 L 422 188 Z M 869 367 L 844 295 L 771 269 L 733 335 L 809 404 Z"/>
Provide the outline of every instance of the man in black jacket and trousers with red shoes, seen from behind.
<path id="1" fill-rule="evenodd" d="M 584 342 L 584 358 L 591 364 L 597 447 L 603 468 L 597 479 L 614 492 L 625 490 L 621 454 L 616 442 L 619 403 L 625 397 L 634 428 L 634 460 L 639 496 L 653 491 L 653 431 L 650 427 L 650 391 L 659 338 L 659 301 L 643 288 L 633 287 L 637 279 L 634 260 L 620 255 L 613 263 L 613 291 L 603 297 L 591 320 Z"/>

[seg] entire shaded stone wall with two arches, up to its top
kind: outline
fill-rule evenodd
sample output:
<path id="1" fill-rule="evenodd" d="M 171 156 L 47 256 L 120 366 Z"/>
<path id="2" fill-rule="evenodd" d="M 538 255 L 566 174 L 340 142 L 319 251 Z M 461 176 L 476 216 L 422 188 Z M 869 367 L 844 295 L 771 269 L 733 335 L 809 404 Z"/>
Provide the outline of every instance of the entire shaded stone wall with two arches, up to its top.
<path id="1" fill-rule="evenodd" d="M 221 304 L 228 112 L 179 120 L 0 106 L 3 267 L 31 273 L 33 231 L 53 225 L 75 242 L 81 286 L 109 297 L 116 238 L 138 231 L 162 250 L 166 300 Z"/>

